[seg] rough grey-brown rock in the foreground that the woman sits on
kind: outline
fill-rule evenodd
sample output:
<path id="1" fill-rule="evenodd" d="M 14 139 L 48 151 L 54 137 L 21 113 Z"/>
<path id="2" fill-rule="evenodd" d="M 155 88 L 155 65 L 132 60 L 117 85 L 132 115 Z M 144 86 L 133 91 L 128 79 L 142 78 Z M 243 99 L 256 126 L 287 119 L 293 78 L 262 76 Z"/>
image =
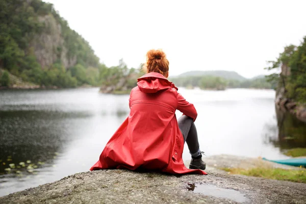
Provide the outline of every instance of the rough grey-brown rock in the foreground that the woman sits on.
<path id="1" fill-rule="evenodd" d="M 208 175 L 174 176 L 129 170 L 84 172 L 1 197 L 0 203 L 305 203 L 306 201 L 306 184 L 208 173 Z"/>

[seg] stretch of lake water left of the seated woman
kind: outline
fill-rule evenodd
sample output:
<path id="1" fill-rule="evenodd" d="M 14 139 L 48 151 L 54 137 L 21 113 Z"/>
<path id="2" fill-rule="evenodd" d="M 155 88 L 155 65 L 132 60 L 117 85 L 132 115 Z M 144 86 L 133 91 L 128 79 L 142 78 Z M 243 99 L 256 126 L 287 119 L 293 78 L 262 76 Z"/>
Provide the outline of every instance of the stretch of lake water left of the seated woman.
<path id="1" fill-rule="evenodd" d="M 128 97 L 0 91 L 0 196 L 88 171 L 127 116 Z"/>

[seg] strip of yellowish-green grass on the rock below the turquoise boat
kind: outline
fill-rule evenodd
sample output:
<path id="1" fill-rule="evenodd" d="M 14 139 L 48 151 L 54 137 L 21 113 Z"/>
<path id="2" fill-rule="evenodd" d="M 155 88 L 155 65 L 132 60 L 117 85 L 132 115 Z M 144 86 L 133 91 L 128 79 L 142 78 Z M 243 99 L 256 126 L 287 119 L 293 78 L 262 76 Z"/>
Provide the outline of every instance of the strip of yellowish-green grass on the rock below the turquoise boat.
<path id="1" fill-rule="evenodd" d="M 306 183 L 306 170 L 288 170 L 279 168 L 252 168 L 248 170 L 239 168 L 222 168 L 222 170 L 227 171 L 230 174 L 241 174 L 247 176 L 262 177 L 266 179 Z"/>

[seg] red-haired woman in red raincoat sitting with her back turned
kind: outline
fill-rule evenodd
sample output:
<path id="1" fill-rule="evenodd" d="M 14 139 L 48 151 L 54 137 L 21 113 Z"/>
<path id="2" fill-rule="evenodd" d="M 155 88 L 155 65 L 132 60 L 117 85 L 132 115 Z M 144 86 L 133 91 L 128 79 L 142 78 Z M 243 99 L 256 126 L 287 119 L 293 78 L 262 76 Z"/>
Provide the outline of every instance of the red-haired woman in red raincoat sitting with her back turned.
<path id="1" fill-rule="evenodd" d="M 129 98 L 130 114 L 90 170 L 126 168 L 173 174 L 207 174 L 201 159 L 194 121 L 194 106 L 167 80 L 169 61 L 162 50 L 149 50 L 147 74 L 138 79 Z M 183 116 L 176 120 L 175 111 Z M 189 169 L 183 163 L 185 141 L 192 156 Z"/>

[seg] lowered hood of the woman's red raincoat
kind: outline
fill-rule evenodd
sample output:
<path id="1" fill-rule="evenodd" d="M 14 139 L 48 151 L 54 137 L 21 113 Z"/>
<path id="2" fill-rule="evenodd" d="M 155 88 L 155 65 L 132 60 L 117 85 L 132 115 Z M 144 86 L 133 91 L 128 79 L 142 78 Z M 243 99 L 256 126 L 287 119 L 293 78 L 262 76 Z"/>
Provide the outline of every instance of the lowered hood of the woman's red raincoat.
<path id="1" fill-rule="evenodd" d="M 163 74 L 157 72 L 150 72 L 138 78 L 137 86 L 141 92 L 156 93 L 160 90 L 177 88 L 172 82 L 169 82 Z"/>

